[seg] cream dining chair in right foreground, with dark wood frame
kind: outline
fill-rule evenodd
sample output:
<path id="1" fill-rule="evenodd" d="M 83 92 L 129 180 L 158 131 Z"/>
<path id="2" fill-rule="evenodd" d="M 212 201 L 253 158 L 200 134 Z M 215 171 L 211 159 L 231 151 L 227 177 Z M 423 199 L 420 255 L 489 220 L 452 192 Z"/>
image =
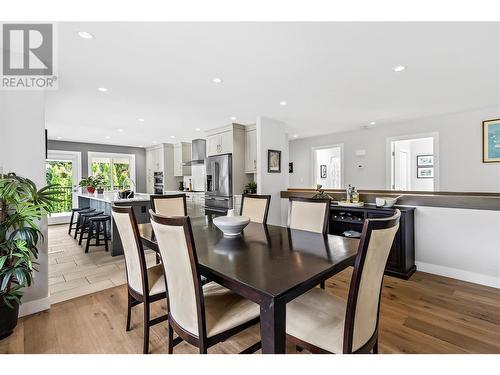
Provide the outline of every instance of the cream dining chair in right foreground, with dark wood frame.
<path id="1" fill-rule="evenodd" d="M 314 288 L 287 304 L 289 341 L 317 353 L 378 353 L 382 282 L 399 219 L 396 210 L 365 220 L 347 301 Z"/>

